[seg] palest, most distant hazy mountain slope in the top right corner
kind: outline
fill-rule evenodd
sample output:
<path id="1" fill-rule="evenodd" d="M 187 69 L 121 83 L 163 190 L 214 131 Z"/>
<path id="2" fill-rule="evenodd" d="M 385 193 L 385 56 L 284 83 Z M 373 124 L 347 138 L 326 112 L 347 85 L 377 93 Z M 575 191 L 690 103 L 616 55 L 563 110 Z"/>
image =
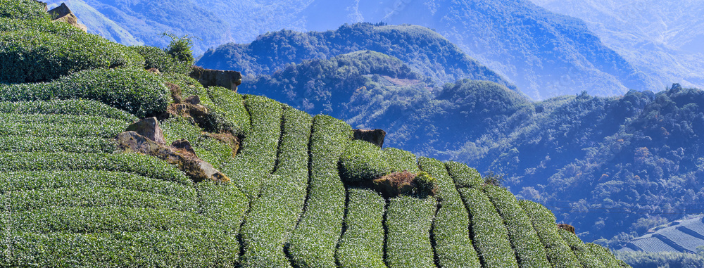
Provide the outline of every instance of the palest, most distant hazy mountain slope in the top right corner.
<path id="1" fill-rule="evenodd" d="M 533 0 L 543 8 L 584 20 L 604 44 L 663 88 L 704 87 L 702 1 Z"/>

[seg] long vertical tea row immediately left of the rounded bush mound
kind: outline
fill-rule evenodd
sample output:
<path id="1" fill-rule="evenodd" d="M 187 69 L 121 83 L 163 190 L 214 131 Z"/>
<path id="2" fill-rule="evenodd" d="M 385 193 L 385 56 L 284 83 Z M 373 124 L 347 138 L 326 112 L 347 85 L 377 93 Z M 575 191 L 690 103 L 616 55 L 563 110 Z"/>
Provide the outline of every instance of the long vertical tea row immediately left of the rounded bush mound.
<path id="1" fill-rule="evenodd" d="M 313 119 L 308 200 L 289 243 L 294 267 L 335 266 L 345 205 L 345 188 L 337 162 L 351 138 L 352 127 L 345 122 L 327 115 Z"/>

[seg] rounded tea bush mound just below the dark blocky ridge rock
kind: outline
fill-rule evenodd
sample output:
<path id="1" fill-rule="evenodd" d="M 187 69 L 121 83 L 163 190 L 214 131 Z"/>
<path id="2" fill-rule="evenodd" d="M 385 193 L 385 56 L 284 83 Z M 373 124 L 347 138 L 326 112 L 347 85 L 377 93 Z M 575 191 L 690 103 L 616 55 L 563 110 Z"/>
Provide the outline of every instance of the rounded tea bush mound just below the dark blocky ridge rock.
<path id="1" fill-rule="evenodd" d="M 391 172 L 384 151 L 367 141 L 352 141 L 340 155 L 340 175 L 349 183 L 371 181 Z"/>

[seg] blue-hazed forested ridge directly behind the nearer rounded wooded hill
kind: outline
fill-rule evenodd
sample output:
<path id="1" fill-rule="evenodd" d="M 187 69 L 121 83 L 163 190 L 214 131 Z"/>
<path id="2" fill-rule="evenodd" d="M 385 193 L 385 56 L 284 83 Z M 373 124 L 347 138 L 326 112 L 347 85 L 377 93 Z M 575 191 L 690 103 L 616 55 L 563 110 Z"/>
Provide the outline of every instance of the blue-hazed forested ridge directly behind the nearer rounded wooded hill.
<path id="1" fill-rule="evenodd" d="M 371 50 L 408 63 L 410 68 L 443 84 L 458 79 L 482 79 L 516 89 L 501 75 L 463 53 L 440 34 L 414 25 L 343 25 L 334 31 L 262 34 L 251 44 L 225 44 L 211 49 L 196 65 L 238 70 L 246 77 L 267 75 L 303 60 L 327 59 L 343 53 Z"/>

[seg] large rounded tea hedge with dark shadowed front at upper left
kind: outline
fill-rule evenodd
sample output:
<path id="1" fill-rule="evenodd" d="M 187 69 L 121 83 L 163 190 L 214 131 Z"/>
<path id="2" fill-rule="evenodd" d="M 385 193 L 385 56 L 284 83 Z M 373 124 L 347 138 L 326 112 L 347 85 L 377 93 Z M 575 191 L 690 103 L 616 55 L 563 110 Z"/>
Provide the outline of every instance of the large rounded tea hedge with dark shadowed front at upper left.
<path id="1" fill-rule="evenodd" d="M 56 79 L 80 70 L 142 68 L 138 53 L 76 27 L 46 22 L 29 25 L 0 20 L 0 82 L 25 83 Z M 34 27 L 51 26 L 47 29 Z M 8 29 L 9 28 L 9 29 Z M 13 29 L 14 28 L 14 29 Z M 53 31 L 53 32 L 51 32 Z"/>

